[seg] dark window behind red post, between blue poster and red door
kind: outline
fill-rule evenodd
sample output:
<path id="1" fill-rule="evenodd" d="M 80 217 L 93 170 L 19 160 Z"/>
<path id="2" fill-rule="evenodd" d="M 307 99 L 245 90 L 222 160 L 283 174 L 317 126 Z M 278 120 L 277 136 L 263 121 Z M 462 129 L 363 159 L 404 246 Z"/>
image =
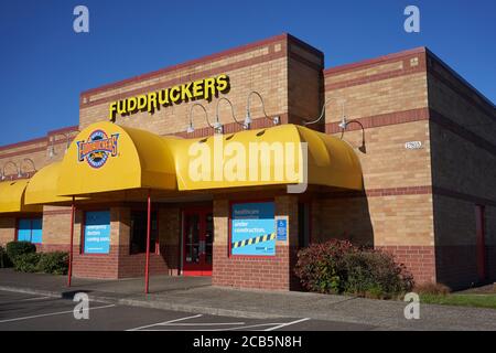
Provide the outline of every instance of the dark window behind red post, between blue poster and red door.
<path id="1" fill-rule="evenodd" d="M 129 249 L 131 254 L 140 254 L 147 252 L 147 211 L 131 212 L 131 244 Z M 150 225 L 150 253 L 158 253 L 159 226 L 157 222 L 157 212 L 151 213 Z"/>

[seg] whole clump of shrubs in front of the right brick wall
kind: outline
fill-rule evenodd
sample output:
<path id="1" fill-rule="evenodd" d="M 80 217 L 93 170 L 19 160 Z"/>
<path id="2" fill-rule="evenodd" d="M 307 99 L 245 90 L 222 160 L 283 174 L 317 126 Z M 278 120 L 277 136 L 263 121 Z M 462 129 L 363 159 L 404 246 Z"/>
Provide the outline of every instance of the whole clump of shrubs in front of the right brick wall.
<path id="1" fill-rule="evenodd" d="M 413 277 L 392 255 L 346 240 L 313 244 L 298 254 L 295 274 L 302 286 L 321 293 L 392 298 L 411 290 Z"/>

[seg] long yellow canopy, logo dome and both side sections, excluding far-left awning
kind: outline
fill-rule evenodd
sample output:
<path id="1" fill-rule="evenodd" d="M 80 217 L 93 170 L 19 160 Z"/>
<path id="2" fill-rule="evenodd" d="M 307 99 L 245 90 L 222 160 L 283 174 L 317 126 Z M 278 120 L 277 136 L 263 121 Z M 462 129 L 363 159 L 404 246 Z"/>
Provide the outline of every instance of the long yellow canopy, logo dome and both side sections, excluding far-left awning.
<path id="1" fill-rule="evenodd" d="M 117 200 L 144 189 L 174 195 L 303 182 L 360 190 L 358 157 L 345 141 L 295 125 L 179 139 L 105 121 L 83 130 L 62 162 L 33 176 L 26 203 L 97 193 Z"/>

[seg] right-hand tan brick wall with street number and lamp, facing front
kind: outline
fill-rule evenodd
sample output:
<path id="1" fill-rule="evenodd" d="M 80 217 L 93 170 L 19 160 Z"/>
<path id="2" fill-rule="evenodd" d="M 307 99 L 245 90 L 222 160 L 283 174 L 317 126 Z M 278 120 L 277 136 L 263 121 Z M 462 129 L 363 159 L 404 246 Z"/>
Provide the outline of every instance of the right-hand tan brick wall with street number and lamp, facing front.
<path id="1" fill-rule="evenodd" d="M 312 234 L 391 252 L 419 282 L 435 280 L 425 60 L 419 49 L 324 72 L 326 131 L 341 137 L 339 99 L 365 128 L 365 149 L 358 124 L 343 136 L 359 156 L 365 191 L 321 195 Z M 408 141 L 422 148 L 408 150 Z"/>

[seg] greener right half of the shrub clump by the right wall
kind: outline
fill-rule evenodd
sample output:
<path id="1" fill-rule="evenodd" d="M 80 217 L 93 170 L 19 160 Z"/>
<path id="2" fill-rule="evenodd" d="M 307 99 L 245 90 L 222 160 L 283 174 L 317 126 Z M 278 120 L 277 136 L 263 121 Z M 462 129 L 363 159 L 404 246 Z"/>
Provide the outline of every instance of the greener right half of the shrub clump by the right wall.
<path id="1" fill-rule="evenodd" d="M 345 255 L 345 292 L 367 298 L 389 299 L 410 291 L 413 277 L 392 255 L 379 250 L 362 250 Z"/>

